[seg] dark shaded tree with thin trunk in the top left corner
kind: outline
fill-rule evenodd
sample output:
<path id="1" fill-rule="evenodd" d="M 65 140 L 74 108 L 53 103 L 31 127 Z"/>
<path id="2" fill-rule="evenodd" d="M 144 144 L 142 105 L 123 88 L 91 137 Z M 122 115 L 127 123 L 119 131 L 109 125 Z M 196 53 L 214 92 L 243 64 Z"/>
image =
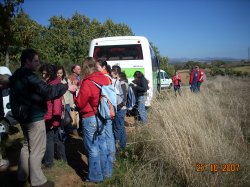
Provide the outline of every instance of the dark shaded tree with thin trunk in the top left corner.
<path id="1" fill-rule="evenodd" d="M 5 57 L 5 66 L 9 67 L 10 47 L 15 44 L 15 32 L 12 22 L 23 0 L 4 0 L 0 2 L 0 51 Z"/>

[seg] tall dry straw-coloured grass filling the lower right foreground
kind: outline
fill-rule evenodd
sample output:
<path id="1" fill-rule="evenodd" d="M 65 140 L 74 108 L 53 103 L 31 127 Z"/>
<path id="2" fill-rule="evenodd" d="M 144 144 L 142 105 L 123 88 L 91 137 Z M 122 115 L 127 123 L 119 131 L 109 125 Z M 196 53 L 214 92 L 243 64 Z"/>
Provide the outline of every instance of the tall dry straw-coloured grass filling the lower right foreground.
<path id="1" fill-rule="evenodd" d="M 148 126 L 132 136 L 140 162 L 126 174 L 126 186 L 250 186 L 249 92 L 250 79 L 228 77 L 208 80 L 198 94 L 163 92 Z M 223 172 L 223 164 L 240 169 Z"/>

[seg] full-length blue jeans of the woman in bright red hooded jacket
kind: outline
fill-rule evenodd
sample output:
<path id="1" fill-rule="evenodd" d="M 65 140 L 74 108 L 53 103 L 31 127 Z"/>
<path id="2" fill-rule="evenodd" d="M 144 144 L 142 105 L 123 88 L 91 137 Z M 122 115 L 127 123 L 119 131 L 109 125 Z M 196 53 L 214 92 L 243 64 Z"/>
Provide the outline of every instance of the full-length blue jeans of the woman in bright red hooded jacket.
<path id="1" fill-rule="evenodd" d="M 92 182 L 101 182 L 112 176 L 112 162 L 108 160 L 108 150 L 105 133 L 95 136 L 102 123 L 95 116 L 82 119 L 82 134 L 84 145 L 88 152 L 88 179 Z"/>

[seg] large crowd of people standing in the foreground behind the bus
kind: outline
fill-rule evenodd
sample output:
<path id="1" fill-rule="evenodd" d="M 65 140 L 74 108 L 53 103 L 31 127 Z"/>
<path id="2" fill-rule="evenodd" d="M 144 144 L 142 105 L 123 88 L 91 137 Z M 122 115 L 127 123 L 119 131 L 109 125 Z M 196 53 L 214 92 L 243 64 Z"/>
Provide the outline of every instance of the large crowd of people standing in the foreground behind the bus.
<path id="1" fill-rule="evenodd" d="M 42 167 L 53 166 L 55 152 L 67 162 L 61 132 L 67 136 L 79 129 L 88 157 L 87 180 L 101 182 L 110 178 L 116 153 L 126 147 L 129 87 L 136 96 L 137 119 L 142 124 L 147 121 L 144 95 L 148 82 L 142 72 L 136 71 L 134 80 L 128 84 L 119 66 L 111 68 L 106 61 L 91 57 L 84 59 L 82 66 L 74 65 L 69 76 L 62 66 L 43 64 L 40 67 L 39 55 L 34 49 L 23 50 L 20 59 L 20 68 L 9 78 L 11 110 L 25 140 L 18 163 L 19 185 L 24 186 L 29 179 L 31 186 L 54 186 L 47 181 Z M 38 68 L 40 76 L 36 73 Z M 103 120 L 98 115 L 101 90 L 95 83 L 114 86 L 117 103 L 113 120 Z M 78 123 L 63 124 L 66 113 L 72 111 L 77 112 Z"/>

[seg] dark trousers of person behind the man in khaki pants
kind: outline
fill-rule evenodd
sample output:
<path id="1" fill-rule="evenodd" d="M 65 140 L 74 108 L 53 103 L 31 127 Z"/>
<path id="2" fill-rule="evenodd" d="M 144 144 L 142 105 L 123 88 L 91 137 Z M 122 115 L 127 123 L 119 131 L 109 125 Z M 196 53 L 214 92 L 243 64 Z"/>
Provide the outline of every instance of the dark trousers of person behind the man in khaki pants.
<path id="1" fill-rule="evenodd" d="M 52 167 L 54 162 L 54 153 L 55 153 L 55 145 L 56 145 L 56 152 L 59 159 L 64 160 L 67 162 L 66 154 L 65 154 L 65 147 L 62 141 L 59 140 L 59 128 L 55 129 L 47 129 L 46 132 L 47 136 L 47 144 L 46 144 L 46 151 L 43 158 L 43 162 L 45 166 Z"/>

